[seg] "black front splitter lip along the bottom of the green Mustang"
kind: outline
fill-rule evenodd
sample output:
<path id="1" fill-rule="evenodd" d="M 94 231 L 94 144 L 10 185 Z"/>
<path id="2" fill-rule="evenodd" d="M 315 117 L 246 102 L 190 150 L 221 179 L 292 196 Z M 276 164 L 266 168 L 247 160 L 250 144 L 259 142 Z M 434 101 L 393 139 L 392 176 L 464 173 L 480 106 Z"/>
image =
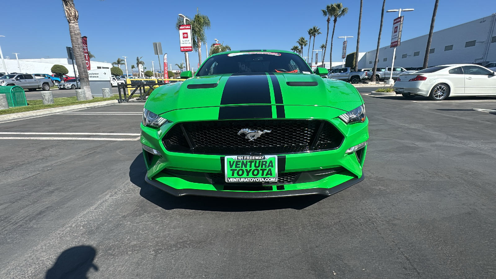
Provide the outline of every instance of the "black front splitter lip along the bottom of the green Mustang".
<path id="1" fill-rule="evenodd" d="M 156 180 L 150 180 L 145 175 L 145 181 L 158 189 L 165 191 L 171 195 L 181 196 L 206 196 L 206 197 L 220 197 L 220 198 L 240 198 L 240 199 L 263 199 L 263 198 L 283 198 L 283 197 L 296 197 L 296 196 L 309 196 L 309 195 L 323 195 L 331 196 L 344 189 L 355 185 L 364 180 L 365 175 L 362 174 L 360 178 L 353 178 L 344 183 L 336 185 L 329 189 L 324 188 L 311 188 L 300 190 L 285 190 L 285 191 L 263 191 L 263 192 L 243 192 L 243 191 L 215 191 L 215 190 L 198 190 L 198 189 L 176 189 L 169 185 Z"/>

